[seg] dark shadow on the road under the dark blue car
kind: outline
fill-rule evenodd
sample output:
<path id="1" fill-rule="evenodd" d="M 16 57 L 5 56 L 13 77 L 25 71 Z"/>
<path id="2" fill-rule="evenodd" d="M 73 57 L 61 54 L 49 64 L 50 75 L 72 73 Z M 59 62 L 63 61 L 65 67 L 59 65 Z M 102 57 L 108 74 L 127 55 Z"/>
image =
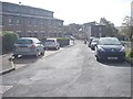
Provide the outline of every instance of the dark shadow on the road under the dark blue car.
<path id="1" fill-rule="evenodd" d="M 127 62 L 108 61 L 108 62 L 102 62 L 102 64 L 106 66 L 115 66 L 115 67 L 132 67 L 132 65 Z"/>

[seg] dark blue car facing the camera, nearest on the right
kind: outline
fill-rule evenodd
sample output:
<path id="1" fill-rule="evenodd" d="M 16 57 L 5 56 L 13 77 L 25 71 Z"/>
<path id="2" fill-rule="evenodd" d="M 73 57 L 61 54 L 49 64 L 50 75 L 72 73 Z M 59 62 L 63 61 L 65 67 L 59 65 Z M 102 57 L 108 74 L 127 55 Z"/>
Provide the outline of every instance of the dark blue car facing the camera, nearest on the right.
<path id="1" fill-rule="evenodd" d="M 125 61 L 125 50 L 116 37 L 101 37 L 95 46 L 98 61 Z"/>

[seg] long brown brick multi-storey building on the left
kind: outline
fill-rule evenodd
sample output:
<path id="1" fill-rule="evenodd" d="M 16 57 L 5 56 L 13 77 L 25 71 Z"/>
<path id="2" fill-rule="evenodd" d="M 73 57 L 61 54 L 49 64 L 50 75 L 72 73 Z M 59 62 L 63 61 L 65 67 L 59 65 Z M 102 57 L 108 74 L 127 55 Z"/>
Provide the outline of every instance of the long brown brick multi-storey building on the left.
<path id="1" fill-rule="evenodd" d="M 63 20 L 53 18 L 53 12 L 40 8 L 1 2 L 2 31 L 13 31 L 22 36 L 62 36 Z"/>

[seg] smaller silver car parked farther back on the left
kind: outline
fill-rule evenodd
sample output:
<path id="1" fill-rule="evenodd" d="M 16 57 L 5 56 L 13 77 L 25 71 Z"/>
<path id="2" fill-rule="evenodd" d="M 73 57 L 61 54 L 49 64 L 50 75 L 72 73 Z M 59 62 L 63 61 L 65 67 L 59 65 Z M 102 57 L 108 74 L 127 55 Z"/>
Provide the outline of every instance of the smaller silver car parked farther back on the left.
<path id="1" fill-rule="evenodd" d="M 44 42 L 44 48 L 60 48 L 60 44 L 58 43 L 57 38 L 47 38 Z"/>

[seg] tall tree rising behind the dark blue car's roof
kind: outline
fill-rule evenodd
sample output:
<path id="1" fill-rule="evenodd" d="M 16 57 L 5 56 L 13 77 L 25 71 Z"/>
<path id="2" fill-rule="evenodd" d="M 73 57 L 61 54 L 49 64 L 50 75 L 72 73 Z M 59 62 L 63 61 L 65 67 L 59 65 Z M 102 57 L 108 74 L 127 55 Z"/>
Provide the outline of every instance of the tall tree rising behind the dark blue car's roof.
<path id="1" fill-rule="evenodd" d="M 108 21 L 105 18 L 100 19 L 100 24 L 105 25 L 105 33 L 106 36 L 115 36 L 117 30 L 115 29 L 114 24 L 111 21 Z"/>

